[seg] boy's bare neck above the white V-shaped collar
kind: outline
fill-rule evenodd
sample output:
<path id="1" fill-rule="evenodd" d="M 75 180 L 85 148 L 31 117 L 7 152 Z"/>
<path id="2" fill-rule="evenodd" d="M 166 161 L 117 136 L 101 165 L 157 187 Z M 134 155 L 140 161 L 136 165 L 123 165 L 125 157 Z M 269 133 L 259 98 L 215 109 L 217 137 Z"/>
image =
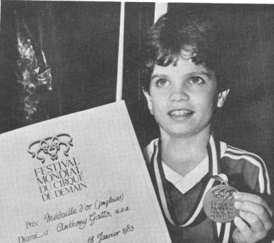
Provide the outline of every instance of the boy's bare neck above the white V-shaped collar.
<path id="1" fill-rule="evenodd" d="M 208 155 L 210 126 L 191 137 L 173 137 L 161 131 L 162 161 L 186 176 Z"/>

